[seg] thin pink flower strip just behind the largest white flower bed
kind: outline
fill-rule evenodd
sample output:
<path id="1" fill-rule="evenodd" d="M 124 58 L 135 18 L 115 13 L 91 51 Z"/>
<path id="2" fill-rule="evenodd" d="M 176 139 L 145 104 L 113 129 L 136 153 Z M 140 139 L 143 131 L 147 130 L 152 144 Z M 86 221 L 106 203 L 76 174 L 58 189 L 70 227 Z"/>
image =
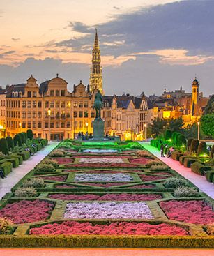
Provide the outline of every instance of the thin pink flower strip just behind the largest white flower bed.
<path id="1" fill-rule="evenodd" d="M 75 194 L 53 194 L 49 198 L 59 200 L 77 200 L 77 201 L 152 201 L 162 198 L 158 194 L 105 194 L 105 195 L 75 195 Z"/>

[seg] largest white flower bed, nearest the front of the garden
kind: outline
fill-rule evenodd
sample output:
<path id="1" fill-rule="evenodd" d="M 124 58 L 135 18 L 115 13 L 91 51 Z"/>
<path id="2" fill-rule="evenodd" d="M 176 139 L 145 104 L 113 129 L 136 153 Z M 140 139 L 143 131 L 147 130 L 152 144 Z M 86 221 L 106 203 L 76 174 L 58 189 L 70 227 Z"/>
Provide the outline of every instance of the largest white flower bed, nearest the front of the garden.
<path id="1" fill-rule="evenodd" d="M 124 203 L 68 203 L 64 218 L 73 219 L 123 219 L 153 218 L 148 205 L 144 202 Z"/>

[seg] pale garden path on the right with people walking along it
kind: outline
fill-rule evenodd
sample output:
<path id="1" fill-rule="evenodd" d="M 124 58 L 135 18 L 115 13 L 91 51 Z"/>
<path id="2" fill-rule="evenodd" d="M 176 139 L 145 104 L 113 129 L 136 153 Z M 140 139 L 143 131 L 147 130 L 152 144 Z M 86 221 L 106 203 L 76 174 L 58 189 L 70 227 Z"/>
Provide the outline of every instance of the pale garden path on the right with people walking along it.
<path id="1" fill-rule="evenodd" d="M 206 193 L 209 197 L 214 199 L 214 184 L 211 182 L 208 182 L 206 180 L 205 176 L 200 176 L 199 174 L 195 174 L 191 171 L 190 168 L 184 167 L 181 165 L 178 161 L 173 160 L 171 158 L 162 158 L 160 156 L 160 151 L 156 149 L 154 146 L 150 145 L 150 142 L 139 142 L 144 146 L 146 150 L 151 152 L 154 156 L 162 160 L 166 165 L 171 167 L 171 169 L 178 172 L 178 174 L 181 174 L 185 177 L 185 179 L 188 179 L 191 181 L 195 186 L 197 186 L 201 191 Z"/>

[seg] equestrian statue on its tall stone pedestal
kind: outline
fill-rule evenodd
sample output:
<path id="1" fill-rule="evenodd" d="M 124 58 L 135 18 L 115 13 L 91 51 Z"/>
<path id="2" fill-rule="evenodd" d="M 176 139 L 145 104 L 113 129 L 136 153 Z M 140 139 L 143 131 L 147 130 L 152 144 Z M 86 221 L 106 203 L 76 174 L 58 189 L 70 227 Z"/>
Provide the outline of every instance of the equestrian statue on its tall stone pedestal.
<path id="1" fill-rule="evenodd" d="M 95 108 L 96 112 L 93 121 L 93 140 L 104 140 L 104 121 L 101 118 L 102 94 L 100 91 L 95 95 L 93 108 Z"/>

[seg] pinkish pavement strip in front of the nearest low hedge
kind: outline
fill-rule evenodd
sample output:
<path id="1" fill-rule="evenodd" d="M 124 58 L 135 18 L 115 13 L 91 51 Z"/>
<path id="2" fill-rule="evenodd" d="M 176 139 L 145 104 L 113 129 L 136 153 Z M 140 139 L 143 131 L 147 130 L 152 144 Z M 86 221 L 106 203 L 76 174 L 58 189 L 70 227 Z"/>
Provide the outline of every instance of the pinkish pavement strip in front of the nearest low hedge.
<path id="1" fill-rule="evenodd" d="M 214 255 L 213 249 L 100 249 L 100 248 L 79 248 L 79 249 L 64 249 L 64 248 L 14 248 L 0 249 L 1 256 L 206 256 Z"/>

